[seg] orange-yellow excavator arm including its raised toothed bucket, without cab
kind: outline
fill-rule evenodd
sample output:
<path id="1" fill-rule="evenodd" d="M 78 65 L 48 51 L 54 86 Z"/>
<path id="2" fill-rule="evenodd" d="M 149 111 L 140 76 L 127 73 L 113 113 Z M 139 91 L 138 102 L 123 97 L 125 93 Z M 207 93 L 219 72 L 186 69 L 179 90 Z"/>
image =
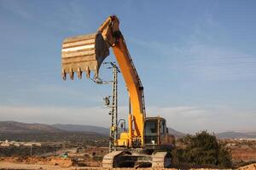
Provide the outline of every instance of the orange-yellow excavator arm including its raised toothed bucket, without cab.
<path id="1" fill-rule="evenodd" d="M 95 34 L 70 37 L 64 40 L 61 56 L 62 77 L 66 80 L 66 75 L 69 73 L 73 79 L 73 74 L 76 72 L 81 78 L 83 71 L 86 72 L 87 77 L 90 77 L 90 71 L 95 72 L 95 78 L 98 77 L 98 71 L 102 61 L 108 56 L 110 47 L 113 49 L 113 54 L 125 79 L 131 101 L 128 133 L 120 135 L 118 145 L 124 142 L 125 146 L 143 147 L 146 116 L 143 85 L 132 62 L 125 39 L 119 31 L 119 20 L 115 15 L 108 17 Z"/>

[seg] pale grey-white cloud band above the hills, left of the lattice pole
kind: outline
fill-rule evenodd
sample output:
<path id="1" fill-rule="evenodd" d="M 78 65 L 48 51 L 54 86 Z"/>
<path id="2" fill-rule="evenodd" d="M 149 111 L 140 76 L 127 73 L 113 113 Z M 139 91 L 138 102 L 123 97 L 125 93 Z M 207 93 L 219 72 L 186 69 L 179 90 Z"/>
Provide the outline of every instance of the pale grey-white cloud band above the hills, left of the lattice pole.
<path id="1" fill-rule="evenodd" d="M 100 107 L 0 106 L 1 120 L 40 123 L 78 123 L 107 127 L 108 111 Z M 106 120 L 106 121 L 104 121 Z"/>

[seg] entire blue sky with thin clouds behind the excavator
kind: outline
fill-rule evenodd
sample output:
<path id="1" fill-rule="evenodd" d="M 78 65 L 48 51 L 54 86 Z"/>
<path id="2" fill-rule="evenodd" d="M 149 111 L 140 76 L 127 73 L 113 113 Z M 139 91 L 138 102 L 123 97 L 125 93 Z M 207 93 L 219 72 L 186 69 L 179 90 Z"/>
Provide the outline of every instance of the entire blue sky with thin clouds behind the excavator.
<path id="1" fill-rule="evenodd" d="M 61 80 L 61 42 L 116 14 L 148 116 L 185 133 L 256 131 L 255 1 L 0 0 L 0 120 L 108 127 L 111 87 Z M 111 54 L 108 59 L 113 61 Z M 111 71 L 101 68 L 108 80 Z M 127 116 L 119 75 L 119 116 Z"/>

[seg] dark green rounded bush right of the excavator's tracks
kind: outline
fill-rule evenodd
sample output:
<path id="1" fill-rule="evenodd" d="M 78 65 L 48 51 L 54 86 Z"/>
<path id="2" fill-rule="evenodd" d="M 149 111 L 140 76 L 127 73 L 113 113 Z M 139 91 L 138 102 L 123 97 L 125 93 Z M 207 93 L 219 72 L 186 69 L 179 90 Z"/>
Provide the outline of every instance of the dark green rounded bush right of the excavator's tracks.
<path id="1" fill-rule="evenodd" d="M 231 167 L 229 150 L 218 144 L 214 134 L 202 131 L 179 139 L 183 146 L 172 151 L 173 163 L 202 167 Z"/>

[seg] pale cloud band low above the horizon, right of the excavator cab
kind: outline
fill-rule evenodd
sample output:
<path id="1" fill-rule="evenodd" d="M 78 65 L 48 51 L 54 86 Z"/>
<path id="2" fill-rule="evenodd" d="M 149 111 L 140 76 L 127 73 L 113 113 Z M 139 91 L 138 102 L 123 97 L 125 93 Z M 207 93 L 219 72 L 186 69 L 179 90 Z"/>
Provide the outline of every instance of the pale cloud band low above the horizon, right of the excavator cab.
<path id="1" fill-rule="evenodd" d="M 201 108 L 195 106 L 149 107 L 148 116 L 158 114 L 166 118 L 169 127 L 185 133 L 201 130 L 211 132 L 256 131 L 254 118 L 256 112 L 240 111 L 226 107 Z"/>

